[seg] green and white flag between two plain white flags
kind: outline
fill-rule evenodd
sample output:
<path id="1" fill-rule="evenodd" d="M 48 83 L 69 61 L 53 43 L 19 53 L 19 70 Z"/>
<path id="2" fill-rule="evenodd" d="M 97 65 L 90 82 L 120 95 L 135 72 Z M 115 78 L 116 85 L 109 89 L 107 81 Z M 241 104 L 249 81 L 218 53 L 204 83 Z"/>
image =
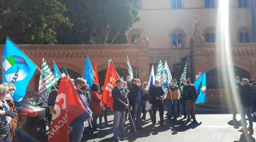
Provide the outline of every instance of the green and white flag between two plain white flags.
<path id="1" fill-rule="evenodd" d="M 155 80 L 159 81 L 159 84 L 163 86 L 163 88 L 166 88 L 168 86 L 168 81 L 164 71 L 162 60 L 160 60 L 158 64 Z"/>

